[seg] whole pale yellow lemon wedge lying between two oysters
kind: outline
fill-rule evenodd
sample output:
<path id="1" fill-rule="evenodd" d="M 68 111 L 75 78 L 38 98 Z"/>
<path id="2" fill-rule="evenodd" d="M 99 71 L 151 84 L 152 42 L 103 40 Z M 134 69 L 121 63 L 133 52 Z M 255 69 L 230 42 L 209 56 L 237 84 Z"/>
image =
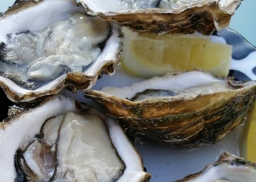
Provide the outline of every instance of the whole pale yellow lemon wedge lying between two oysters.
<path id="1" fill-rule="evenodd" d="M 155 35 L 123 27 L 120 60 L 124 70 L 138 77 L 153 77 L 166 72 L 204 70 L 227 76 L 232 46 L 211 41 L 198 34 Z"/>

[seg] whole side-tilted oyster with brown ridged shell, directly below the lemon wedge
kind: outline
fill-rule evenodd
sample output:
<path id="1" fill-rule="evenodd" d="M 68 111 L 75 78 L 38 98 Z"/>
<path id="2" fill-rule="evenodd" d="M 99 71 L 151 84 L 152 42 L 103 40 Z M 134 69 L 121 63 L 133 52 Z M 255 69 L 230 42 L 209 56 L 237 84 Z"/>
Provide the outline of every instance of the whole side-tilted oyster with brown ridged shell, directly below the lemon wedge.
<path id="1" fill-rule="evenodd" d="M 255 81 L 237 85 L 229 78 L 192 71 L 153 77 L 120 88 L 94 88 L 85 91 L 85 96 L 120 119 L 129 136 L 194 147 L 216 143 L 243 123 L 255 101 L 255 91 Z"/>

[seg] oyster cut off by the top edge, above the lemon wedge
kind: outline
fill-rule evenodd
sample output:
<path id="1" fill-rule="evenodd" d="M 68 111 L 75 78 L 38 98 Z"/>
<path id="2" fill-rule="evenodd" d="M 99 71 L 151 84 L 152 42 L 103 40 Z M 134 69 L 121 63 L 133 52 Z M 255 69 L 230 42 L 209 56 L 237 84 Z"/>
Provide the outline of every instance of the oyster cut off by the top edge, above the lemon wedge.
<path id="1" fill-rule="evenodd" d="M 240 0 L 79 0 L 89 14 L 136 30 L 211 34 L 229 25 Z"/>

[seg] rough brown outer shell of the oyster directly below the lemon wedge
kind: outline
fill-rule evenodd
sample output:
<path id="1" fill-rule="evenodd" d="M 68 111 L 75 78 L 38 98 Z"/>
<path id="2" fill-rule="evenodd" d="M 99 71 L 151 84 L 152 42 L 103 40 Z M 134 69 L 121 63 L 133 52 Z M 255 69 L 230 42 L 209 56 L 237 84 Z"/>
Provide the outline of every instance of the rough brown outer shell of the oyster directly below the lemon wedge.
<path id="1" fill-rule="evenodd" d="M 244 122 L 255 101 L 256 85 L 192 99 L 121 99 L 97 90 L 86 96 L 122 121 L 129 136 L 146 136 L 164 145 L 190 148 L 214 144 Z"/>

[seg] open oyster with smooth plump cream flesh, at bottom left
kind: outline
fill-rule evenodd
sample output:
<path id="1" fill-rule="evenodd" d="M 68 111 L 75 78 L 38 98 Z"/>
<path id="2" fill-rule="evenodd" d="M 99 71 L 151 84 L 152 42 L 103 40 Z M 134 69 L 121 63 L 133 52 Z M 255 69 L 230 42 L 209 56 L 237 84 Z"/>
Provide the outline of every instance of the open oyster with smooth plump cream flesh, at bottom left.
<path id="1" fill-rule="evenodd" d="M 147 181 L 151 177 L 116 121 L 62 95 L 49 96 L 1 123 L 0 160 L 3 181 Z"/>

